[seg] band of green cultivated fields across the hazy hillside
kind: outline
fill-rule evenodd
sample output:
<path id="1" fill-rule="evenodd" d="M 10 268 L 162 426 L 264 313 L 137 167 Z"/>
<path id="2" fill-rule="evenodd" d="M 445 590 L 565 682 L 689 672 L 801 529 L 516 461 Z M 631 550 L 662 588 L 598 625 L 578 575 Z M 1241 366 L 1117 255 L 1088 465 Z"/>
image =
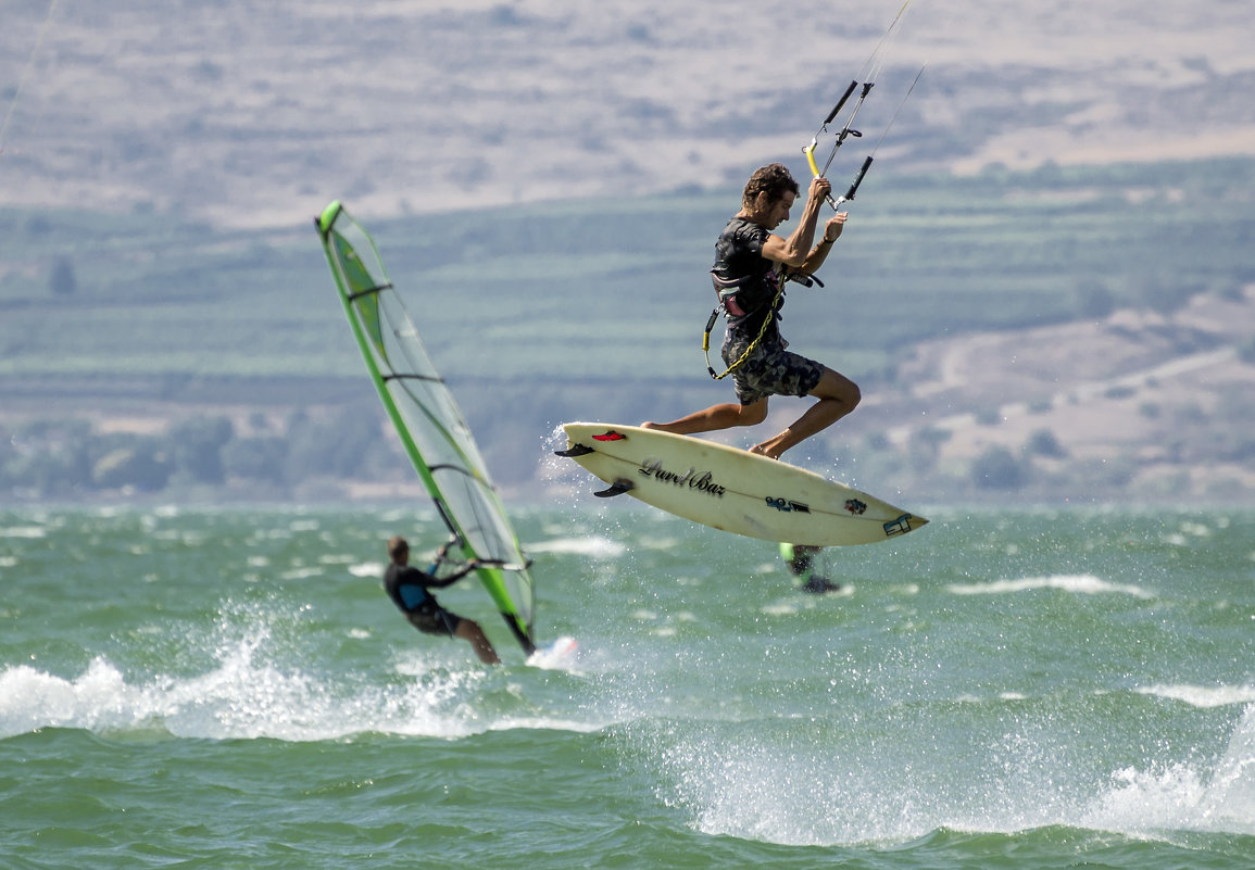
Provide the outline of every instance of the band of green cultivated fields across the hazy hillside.
<path id="1" fill-rule="evenodd" d="M 1255 278 L 1252 182 L 1242 159 L 970 178 L 877 165 L 827 287 L 789 291 L 784 335 L 867 379 L 931 336 L 1226 292 Z M 707 271 L 738 201 L 689 191 L 393 219 L 345 206 L 442 370 L 560 385 L 707 377 Z M 312 221 L 221 232 L 171 214 L 0 209 L 0 385 L 359 374 Z"/>

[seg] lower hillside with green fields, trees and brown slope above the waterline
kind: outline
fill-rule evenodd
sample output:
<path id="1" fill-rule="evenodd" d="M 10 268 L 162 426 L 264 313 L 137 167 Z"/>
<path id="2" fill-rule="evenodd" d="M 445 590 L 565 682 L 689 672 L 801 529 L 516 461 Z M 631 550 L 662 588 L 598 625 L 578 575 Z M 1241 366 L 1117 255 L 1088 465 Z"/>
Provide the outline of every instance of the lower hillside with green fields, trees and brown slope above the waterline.
<path id="1" fill-rule="evenodd" d="M 1250 498 L 1252 178 L 1255 160 L 1227 159 L 870 179 L 827 287 L 791 290 L 783 323 L 865 402 L 791 459 L 937 500 Z M 378 221 L 349 207 L 498 480 L 536 496 L 577 485 L 545 461 L 557 422 L 730 397 L 700 332 L 735 202 L 728 188 Z M 15 242 L 0 253 L 0 469 L 24 493 L 61 473 L 177 481 L 178 439 L 202 430 L 217 435 L 197 461 L 233 458 L 238 494 L 413 480 L 311 222 L 256 233 L 10 209 L 0 232 Z M 769 425 L 799 411 L 774 405 Z M 68 417 L 95 434 L 46 425 Z M 40 465 L 68 443 L 72 459 Z M 152 461 L 123 463 L 141 454 Z"/>

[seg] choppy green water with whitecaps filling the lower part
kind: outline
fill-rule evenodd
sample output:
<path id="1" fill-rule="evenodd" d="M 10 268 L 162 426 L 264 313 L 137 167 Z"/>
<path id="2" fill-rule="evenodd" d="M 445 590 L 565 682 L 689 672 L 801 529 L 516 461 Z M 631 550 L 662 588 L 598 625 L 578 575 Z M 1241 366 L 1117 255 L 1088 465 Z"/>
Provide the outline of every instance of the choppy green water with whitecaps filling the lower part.
<path id="1" fill-rule="evenodd" d="M 1255 866 L 1255 509 L 916 505 L 825 554 L 516 514 L 523 661 L 414 632 L 429 511 L 0 510 L 0 866 Z"/>

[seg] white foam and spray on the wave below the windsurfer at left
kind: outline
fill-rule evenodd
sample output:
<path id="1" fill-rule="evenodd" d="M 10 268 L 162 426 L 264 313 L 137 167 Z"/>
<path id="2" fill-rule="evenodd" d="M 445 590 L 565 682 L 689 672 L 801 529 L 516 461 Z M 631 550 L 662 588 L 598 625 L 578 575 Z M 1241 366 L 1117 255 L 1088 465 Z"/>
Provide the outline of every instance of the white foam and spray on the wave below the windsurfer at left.
<path id="1" fill-rule="evenodd" d="M 311 667 L 267 661 L 270 632 L 251 627 L 226 641 L 216 666 L 200 674 L 131 676 L 104 656 L 67 678 L 29 664 L 0 672 L 0 738 L 45 727 L 93 732 L 163 731 L 176 737 L 321 741 L 363 733 L 458 738 L 511 727 L 586 731 L 527 705 L 484 715 L 477 702 L 499 674 L 451 658 L 453 666 L 407 654 L 388 684 L 354 674 L 333 678 Z M 571 646 L 535 666 L 569 669 Z M 360 674 L 359 674 L 360 677 Z"/>

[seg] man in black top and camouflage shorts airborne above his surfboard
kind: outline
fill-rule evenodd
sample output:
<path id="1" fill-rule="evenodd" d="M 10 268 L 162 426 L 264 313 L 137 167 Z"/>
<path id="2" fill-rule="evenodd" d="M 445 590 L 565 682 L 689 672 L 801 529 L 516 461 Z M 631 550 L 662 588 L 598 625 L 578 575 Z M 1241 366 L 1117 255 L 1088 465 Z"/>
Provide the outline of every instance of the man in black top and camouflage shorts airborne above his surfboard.
<path id="1" fill-rule="evenodd" d="M 855 410 L 861 397 L 858 386 L 845 375 L 786 350 L 788 342 L 781 337 L 777 325 L 784 305 L 786 277 L 813 275 L 841 236 L 846 212 L 825 222 L 822 237 L 812 247 L 820 207 L 831 189 L 826 178 L 811 182 L 802 219 L 789 237 L 783 238 L 771 231 L 788 221 L 789 208 L 798 196 L 797 182 L 779 163 L 762 167 L 750 176 L 740 211 L 715 242 L 712 270 L 728 320 L 723 361 L 732 374 L 739 402 L 713 405 L 671 422 L 644 422 L 645 429 L 693 435 L 753 426 L 767 419 L 771 396 L 813 396 L 817 401 L 793 425 L 750 448 L 752 453 L 779 459 L 789 448 Z"/>

